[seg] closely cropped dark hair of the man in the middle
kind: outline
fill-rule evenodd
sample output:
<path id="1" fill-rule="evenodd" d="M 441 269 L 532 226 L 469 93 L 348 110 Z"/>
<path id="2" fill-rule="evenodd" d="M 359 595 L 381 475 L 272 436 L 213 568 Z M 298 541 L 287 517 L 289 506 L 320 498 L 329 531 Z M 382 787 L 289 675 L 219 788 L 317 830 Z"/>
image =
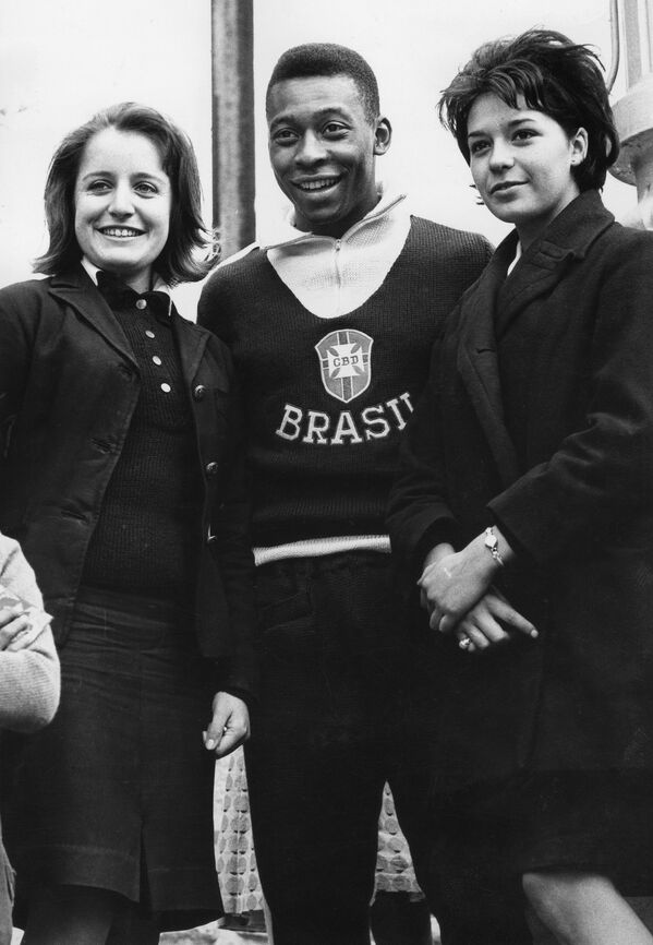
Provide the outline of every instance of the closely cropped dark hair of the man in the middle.
<path id="1" fill-rule="evenodd" d="M 361 96 L 365 118 L 370 122 L 378 118 L 380 105 L 374 72 L 359 52 L 336 43 L 304 43 L 287 49 L 275 65 L 267 84 L 266 112 L 269 113 L 270 93 L 278 82 L 313 75 L 349 75 Z"/>

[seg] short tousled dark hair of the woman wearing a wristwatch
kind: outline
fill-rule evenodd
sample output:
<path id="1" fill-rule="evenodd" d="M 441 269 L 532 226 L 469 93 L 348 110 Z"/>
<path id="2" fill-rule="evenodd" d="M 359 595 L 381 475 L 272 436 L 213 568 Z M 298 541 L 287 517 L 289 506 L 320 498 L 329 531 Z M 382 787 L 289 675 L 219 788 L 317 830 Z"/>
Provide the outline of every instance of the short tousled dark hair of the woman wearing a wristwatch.
<path id="1" fill-rule="evenodd" d="M 528 108 L 553 118 L 571 135 L 588 132 L 588 154 L 571 172 L 579 190 L 602 188 L 619 141 L 603 79 L 601 60 L 553 29 L 528 29 L 513 38 L 485 43 L 472 55 L 438 103 L 443 124 L 452 132 L 467 163 L 467 123 L 479 96 L 494 94 L 510 108 L 519 96 Z"/>

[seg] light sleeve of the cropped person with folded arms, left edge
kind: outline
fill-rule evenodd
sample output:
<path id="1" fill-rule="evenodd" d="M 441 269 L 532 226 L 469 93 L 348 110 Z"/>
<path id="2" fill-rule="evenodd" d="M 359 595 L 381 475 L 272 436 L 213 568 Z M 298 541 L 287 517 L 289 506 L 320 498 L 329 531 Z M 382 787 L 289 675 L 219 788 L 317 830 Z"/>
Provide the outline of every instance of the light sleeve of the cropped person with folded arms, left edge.
<path id="1" fill-rule="evenodd" d="M 32 567 L 16 541 L 0 534 L 0 594 L 8 590 L 43 610 Z M 49 626 L 27 649 L 0 650 L 0 728 L 34 731 L 59 704 L 59 659 Z"/>

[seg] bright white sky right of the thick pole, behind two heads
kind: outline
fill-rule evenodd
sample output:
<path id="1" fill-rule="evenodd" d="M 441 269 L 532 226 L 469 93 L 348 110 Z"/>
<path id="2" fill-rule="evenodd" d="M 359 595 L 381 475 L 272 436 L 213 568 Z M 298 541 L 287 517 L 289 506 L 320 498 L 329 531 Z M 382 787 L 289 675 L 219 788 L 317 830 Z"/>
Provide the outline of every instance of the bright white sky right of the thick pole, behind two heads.
<path id="1" fill-rule="evenodd" d="M 407 188 L 415 211 L 500 239 L 507 227 L 476 205 L 471 175 L 452 137 L 439 127 L 438 93 L 481 43 L 531 26 L 555 28 L 597 47 L 609 70 L 608 0 L 258 0 L 255 10 L 256 108 L 289 46 L 334 41 L 359 50 L 375 70 L 394 139 L 379 163 L 384 179 Z M 619 76 L 620 83 L 620 76 Z M 621 91 L 620 91 L 621 89 Z M 616 87 L 618 95 L 622 88 Z M 280 205 L 267 172 L 265 128 L 258 128 L 257 208 Z M 605 200 L 616 213 L 636 203 L 634 188 L 609 178 Z"/>

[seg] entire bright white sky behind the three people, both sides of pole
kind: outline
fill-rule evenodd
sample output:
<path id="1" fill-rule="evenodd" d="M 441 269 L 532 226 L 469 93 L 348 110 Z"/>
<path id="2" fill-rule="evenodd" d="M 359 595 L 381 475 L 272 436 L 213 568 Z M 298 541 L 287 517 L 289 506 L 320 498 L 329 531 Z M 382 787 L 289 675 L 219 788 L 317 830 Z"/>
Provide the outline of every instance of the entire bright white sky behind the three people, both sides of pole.
<path id="1" fill-rule="evenodd" d="M 437 122 L 438 92 L 481 41 L 545 25 L 609 58 L 608 0 L 255 0 L 256 186 L 259 215 L 281 204 L 267 162 L 263 99 L 278 56 L 343 43 L 375 69 L 395 136 L 382 176 L 415 211 L 499 239 Z M 43 251 L 41 194 L 62 135 L 98 108 L 133 98 L 171 115 L 195 143 L 210 205 L 209 0 L 0 0 L 0 285 L 26 278 Z M 620 213 L 634 189 L 610 179 Z M 208 214 L 207 214 L 208 216 Z M 189 306 L 196 290 L 188 292 Z M 189 312 L 190 314 L 190 312 Z"/>

